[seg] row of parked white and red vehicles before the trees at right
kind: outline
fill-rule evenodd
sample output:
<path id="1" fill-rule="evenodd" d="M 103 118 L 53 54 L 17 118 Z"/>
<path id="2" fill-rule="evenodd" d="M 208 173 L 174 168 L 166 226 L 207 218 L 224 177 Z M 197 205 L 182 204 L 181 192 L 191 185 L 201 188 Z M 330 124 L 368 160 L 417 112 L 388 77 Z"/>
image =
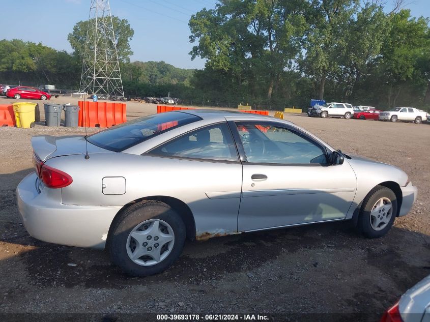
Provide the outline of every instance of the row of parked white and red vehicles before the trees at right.
<path id="1" fill-rule="evenodd" d="M 416 124 L 424 121 L 430 122 L 430 114 L 413 107 L 396 107 L 389 111 L 381 111 L 372 106 L 353 106 L 349 103 L 327 103 L 314 105 L 307 111 L 308 116 L 321 118 L 339 117 L 344 119 L 379 120 L 379 121 L 404 121 Z"/>

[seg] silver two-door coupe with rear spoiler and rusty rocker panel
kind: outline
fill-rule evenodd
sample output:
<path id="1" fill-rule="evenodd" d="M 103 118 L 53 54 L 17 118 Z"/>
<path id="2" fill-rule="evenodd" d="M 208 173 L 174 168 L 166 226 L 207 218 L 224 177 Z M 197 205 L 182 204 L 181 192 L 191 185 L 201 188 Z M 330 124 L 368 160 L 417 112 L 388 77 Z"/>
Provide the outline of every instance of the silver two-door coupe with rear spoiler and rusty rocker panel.
<path id="1" fill-rule="evenodd" d="M 28 233 L 106 247 L 133 276 L 165 270 L 186 238 L 340 220 L 381 237 L 417 196 L 404 171 L 258 114 L 173 111 L 32 145 L 17 187 Z"/>

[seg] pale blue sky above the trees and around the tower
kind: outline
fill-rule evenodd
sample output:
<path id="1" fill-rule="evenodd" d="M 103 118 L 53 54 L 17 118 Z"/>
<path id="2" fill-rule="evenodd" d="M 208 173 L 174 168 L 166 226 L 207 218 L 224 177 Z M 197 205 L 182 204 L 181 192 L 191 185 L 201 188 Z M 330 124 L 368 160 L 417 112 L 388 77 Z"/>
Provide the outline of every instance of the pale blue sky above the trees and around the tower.
<path id="1" fill-rule="evenodd" d="M 387 10 L 392 0 L 388 0 Z M 42 42 L 71 51 L 67 34 L 77 21 L 87 20 L 91 0 L 21 0 L 19 14 L 0 19 L 2 38 Z M 126 18 L 134 29 L 132 61 L 164 61 L 181 68 L 203 68 L 199 58 L 191 61 L 188 36 L 191 15 L 216 0 L 110 0 L 112 15 Z M 407 0 L 414 16 L 430 17 L 430 0 Z M 43 5 L 42 5 L 43 4 Z M 2 12 L 16 12 L 13 1 L 2 3 Z M 18 22 L 20 21 L 20 23 Z"/>

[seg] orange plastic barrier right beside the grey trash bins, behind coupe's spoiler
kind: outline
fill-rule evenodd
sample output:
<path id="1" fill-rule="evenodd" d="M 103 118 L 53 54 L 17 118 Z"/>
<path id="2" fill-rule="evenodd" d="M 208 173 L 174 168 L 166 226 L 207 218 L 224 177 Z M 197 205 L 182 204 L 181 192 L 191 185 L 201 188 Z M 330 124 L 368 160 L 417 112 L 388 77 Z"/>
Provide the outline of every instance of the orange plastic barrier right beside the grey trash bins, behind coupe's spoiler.
<path id="1" fill-rule="evenodd" d="M 78 101 L 80 107 L 78 125 L 108 128 L 127 122 L 127 105 L 125 103 Z M 85 117 L 84 114 L 85 113 Z M 86 118 L 86 120 L 85 120 Z"/>

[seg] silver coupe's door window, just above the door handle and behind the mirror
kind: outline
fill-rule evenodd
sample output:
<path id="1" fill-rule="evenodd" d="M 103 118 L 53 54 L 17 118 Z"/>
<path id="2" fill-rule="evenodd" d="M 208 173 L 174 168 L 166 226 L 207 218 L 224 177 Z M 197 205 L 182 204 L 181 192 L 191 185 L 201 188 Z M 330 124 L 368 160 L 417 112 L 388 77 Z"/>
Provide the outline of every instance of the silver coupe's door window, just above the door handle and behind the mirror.
<path id="1" fill-rule="evenodd" d="M 248 162 L 326 164 L 324 150 L 305 135 L 265 123 L 237 123 Z"/>

